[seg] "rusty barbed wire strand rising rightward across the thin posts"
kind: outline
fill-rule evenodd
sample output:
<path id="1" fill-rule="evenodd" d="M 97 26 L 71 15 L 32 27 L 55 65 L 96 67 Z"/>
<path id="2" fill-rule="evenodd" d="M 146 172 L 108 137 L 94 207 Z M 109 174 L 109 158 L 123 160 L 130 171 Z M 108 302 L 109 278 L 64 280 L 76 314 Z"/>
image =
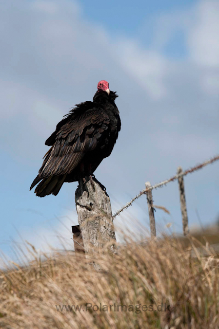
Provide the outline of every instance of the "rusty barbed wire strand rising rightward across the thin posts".
<path id="1" fill-rule="evenodd" d="M 130 200 L 130 202 L 128 202 L 125 206 L 123 206 L 120 210 L 117 210 L 114 214 L 113 214 L 113 217 L 115 218 L 117 215 L 119 215 L 122 211 L 124 211 L 125 209 L 127 209 L 128 207 L 130 207 L 132 205 L 132 203 L 138 199 L 140 196 L 142 196 L 143 194 L 146 194 L 148 191 L 151 191 L 153 189 L 157 189 L 159 187 L 163 187 L 164 185 L 168 184 L 169 182 L 171 181 L 174 181 L 176 179 L 178 179 L 179 177 L 182 177 L 182 176 L 186 176 L 188 174 L 191 174 L 193 173 L 194 171 L 196 170 L 200 170 L 202 169 L 203 167 L 207 166 L 207 165 L 210 165 L 211 163 L 215 162 L 219 160 L 219 155 L 216 155 L 214 156 L 213 158 L 207 160 L 207 161 L 204 161 L 202 163 L 200 163 L 199 165 L 196 165 L 190 169 L 187 169 L 185 171 L 183 171 L 181 174 L 177 174 L 175 176 L 172 176 L 171 178 L 169 179 L 166 179 L 166 180 L 163 180 L 161 181 L 160 183 L 157 183 L 147 189 L 144 189 L 142 190 L 140 193 L 138 193 L 135 197 L 133 197 L 133 199 Z"/>

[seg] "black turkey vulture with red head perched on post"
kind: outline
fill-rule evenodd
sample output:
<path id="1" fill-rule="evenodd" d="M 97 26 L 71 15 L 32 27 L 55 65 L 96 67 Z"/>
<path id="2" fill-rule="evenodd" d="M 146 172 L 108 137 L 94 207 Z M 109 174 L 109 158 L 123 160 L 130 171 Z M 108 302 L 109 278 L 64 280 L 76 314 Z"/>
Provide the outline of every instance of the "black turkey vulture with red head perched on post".
<path id="1" fill-rule="evenodd" d="M 92 181 L 93 172 L 111 154 L 121 129 L 116 97 L 107 81 L 99 81 L 93 101 L 75 105 L 64 116 L 45 142 L 51 148 L 30 190 L 39 182 L 37 196 L 57 195 L 65 181 L 85 176 Z"/>

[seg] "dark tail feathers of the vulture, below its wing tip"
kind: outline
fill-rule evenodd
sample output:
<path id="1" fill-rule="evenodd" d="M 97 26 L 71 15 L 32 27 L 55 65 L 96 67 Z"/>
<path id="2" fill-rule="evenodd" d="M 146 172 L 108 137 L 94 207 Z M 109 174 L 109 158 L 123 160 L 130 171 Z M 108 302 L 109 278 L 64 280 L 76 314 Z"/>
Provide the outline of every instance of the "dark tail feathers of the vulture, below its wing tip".
<path id="1" fill-rule="evenodd" d="M 61 189 L 66 175 L 50 176 L 44 178 L 36 187 L 35 193 L 39 197 L 44 197 L 49 194 L 57 195 Z"/>

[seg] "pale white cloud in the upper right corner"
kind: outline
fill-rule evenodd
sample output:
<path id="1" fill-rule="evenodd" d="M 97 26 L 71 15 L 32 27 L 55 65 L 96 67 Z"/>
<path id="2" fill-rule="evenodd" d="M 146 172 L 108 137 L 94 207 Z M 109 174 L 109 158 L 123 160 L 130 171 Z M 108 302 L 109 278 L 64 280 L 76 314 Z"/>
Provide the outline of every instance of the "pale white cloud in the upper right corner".
<path id="1" fill-rule="evenodd" d="M 219 92 L 218 17 L 218 1 L 201 1 L 188 35 L 191 58 L 203 70 L 200 86 L 210 96 Z"/>

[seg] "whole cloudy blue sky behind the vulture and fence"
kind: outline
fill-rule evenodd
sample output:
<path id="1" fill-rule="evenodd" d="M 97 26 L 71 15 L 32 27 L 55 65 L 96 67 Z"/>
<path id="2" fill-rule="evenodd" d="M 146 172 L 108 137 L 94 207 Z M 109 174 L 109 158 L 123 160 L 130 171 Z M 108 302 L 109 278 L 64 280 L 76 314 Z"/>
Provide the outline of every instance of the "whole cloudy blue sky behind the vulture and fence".
<path id="1" fill-rule="evenodd" d="M 113 212 L 144 188 L 218 154 L 217 1 L 21 1 L 0 3 L 0 248 L 12 241 L 60 247 L 77 223 L 76 183 L 37 198 L 29 186 L 47 137 L 74 104 L 91 100 L 99 80 L 116 90 L 122 130 L 95 175 Z M 219 215 L 218 164 L 185 178 L 189 224 Z M 182 232 L 177 184 L 153 192 L 158 228 Z M 117 218 L 148 227 L 143 196 Z M 67 228 L 66 228 L 67 227 Z M 19 234 L 18 234 L 19 233 Z"/>

